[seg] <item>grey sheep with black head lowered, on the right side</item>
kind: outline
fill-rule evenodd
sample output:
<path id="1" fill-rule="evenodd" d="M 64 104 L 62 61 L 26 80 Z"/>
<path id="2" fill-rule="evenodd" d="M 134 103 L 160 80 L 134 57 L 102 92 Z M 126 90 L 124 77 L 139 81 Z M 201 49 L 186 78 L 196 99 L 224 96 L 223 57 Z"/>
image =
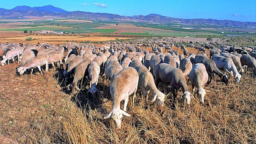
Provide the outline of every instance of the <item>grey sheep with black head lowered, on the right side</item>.
<path id="1" fill-rule="evenodd" d="M 221 81 L 224 82 L 226 85 L 228 85 L 228 77 L 227 75 L 223 74 L 216 66 L 215 62 L 211 59 L 209 59 L 207 56 L 204 55 L 196 55 L 194 59 L 194 64 L 196 63 L 202 63 L 205 65 L 207 73 L 209 75 L 209 79 L 207 83 L 211 83 L 211 73 L 217 74 Z"/>

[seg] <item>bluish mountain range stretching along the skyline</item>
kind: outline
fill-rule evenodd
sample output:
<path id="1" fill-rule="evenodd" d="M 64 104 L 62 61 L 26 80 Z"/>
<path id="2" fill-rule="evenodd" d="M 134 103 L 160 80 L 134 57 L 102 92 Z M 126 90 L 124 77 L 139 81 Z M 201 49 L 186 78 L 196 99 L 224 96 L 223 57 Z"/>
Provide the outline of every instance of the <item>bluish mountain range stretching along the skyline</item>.
<path id="1" fill-rule="evenodd" d="M 184 24 L 207 24 L 207 25 L 223 25 L 223 26 L 239 26 L 239 27 L 255 27 L 256 22 L 237 22 L 232 20 L 217 19 L 181 19 L 166 17 L 158 14 L 120 16 L 110 13 L 90 13 L 83 11 L 69 12 L 54 6 L 29 7 L 16 6 L 13 9 L 0 8 L 0 19 L 16 19 L 26 17 L 62 17 L 62 18 L 82 18 L 88 20 L 124 20 L 124 21 L 144 21 L 144 22 L 171 22 Z"/>

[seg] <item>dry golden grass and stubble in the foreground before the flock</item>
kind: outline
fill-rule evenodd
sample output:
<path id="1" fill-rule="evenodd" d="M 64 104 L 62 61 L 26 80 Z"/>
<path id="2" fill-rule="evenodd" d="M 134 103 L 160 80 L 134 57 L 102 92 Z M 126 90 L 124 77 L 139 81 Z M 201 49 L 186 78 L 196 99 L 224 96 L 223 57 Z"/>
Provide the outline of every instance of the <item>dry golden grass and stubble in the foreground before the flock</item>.
<path id="1" fill-rule="evenodd" d="M 239 84 L 232 78 L 229 86 L 214 78 L 205 87 L 211 91 L 205 104 L 192 99 L 189 110 L 183 100 L 171 109 L 172 95 L 164 84 L 164 112 L 152 103 L 146 109 L 139 90 L 133 108 L 129 99 L 131 117 L 124 117 L 117 130 L 113 120 L 103 118 L 112 109 L 109 80 L 99 78 L 101 93 L 96 95 L 86 94 L 88 81 L 83 90 L 69 95 L 60 73 L 51 69 L 46 76 L 19 77 L 15 66 L 0 68 L 0 134 L 19 143 L 256 143 L 256 80 L 250 73 Z"/>

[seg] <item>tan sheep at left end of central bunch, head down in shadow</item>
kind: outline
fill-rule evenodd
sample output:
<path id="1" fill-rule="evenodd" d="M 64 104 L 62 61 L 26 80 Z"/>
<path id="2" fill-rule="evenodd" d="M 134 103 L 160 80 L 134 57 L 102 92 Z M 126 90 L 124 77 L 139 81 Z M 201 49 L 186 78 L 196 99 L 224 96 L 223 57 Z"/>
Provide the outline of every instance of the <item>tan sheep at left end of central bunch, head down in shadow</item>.
<path id="1" fill-rule="evenodd" d="M 66 76 L 65 77 L 66 82 L 70 82 L 70 77 L 73 75 L 75 67 L 81 61 L 83 61 L 83 58 L 81 56 L 75 56 L 72 60 L 69 61 L 67 71 L 66 73 L 64 72 L 64 76 Z"/>

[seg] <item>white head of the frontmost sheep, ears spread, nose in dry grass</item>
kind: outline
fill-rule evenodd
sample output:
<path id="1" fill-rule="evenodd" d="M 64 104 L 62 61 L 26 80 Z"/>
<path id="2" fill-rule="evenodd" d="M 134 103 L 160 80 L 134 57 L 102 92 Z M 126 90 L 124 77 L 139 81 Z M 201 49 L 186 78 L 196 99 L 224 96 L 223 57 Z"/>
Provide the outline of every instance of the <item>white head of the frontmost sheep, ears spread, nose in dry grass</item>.
<path id="1" fill-rule="evenodd" d="M 104 119 L 107 119 L 111 116 L 111 118 L 114 120 L 115 126 L 117 129 L 121 129 L 121 121 L 123 118 L 123 115 L 130 117 L 131 115 L 129 115 L 128 113 L 126 113 L 125 111 L 119 109 L 114 109 L 109 112 Z"/>

